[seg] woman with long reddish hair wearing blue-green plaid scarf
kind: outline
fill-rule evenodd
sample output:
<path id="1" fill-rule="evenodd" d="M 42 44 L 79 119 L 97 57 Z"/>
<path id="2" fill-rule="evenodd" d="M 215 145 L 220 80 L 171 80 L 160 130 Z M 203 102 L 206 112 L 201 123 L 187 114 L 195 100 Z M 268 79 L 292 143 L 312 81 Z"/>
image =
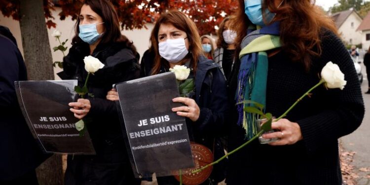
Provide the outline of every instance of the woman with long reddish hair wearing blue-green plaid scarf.
<path id="1" fill-rule="evenodd" d="M 341 185 L 337 139 L 359 127 L 364 103 L 333 21 L 312 0 L 239 3 L 233 21 L 237 69 L 229 97 L 236 96 L 234 103 L 257 101 L 265 112 L 280 116 L 320 81 L 318 74 L 330 61 L 339 66 L 347 84 L 343 90 L 319 86 L 284 119 L 272 122 L 278 131 L 262 137 L 280 140 L 268 145 L 256 140 L 228 156 L 227 185 Z M 233 110 L 229 151 L 256 134 L 249 129 L 253 114 L 243 112 L 243 105 Z"/>

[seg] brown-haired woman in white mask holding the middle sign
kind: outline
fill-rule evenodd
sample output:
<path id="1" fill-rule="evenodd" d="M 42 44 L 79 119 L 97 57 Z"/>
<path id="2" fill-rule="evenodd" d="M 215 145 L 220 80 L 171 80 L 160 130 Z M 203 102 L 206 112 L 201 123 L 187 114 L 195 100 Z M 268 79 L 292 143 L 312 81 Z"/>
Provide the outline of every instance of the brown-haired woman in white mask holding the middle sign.
<path id="1" fill-rule="evenodd" d="M 173 99 L 184 106 L 172 111 L 186 117 L 192 141 L 222 152 L 222 148 L 215 146 L 219 145 L 215 143 L 215 136 L 222 131 L 227 111 L 225 80 L 218 65 L 204 57 L 195 24 L 180 11 L 166 12 L 157 20 L 151 42 L 156 53 L 151 74 L 168 72 L 175 65 L 185 65 L 191 69 L 188 78 L 194 78 L 195 93 L 188 98 Z M 216 165 L 210 177 L 211 183 L 221 182 L 224 170 L 221 164 Z M 159 185 L 178 184 L 173 177 L 157 180 Z"/>

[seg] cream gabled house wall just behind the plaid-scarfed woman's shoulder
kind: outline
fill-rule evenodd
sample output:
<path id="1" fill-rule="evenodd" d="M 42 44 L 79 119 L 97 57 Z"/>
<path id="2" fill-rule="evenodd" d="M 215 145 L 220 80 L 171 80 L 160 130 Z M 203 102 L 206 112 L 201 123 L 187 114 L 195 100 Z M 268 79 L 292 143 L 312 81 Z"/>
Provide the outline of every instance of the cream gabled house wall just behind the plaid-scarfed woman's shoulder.
<path id="1" fill-rule="evenodd" d="M 355 12 L 352 12 L 338 29 L 342 39 L 348 44 L 360 44 L 362 42 L 361 32 L 356 32 L 356 29 L 360 26 L 361 21 L 361 18 Z M 350 42 L 351 39 L 352 43 Z"/>

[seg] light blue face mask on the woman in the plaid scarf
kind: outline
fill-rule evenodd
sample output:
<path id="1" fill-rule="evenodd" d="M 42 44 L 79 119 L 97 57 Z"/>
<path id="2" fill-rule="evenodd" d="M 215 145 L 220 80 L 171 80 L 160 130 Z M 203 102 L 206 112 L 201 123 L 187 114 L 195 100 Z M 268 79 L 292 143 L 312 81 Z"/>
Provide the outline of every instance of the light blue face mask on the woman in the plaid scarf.
<path id="1" fill-rule="evenodd" d="M 283 3 L 281 1 L 278 7 Z M 244 0 L 245 14 L 247 14 L 249 20 L 259 26 L 266 26 L 262 18 L 262 0 Z M 276 14 L 271 13 L 268 9 L 265 10 L 266 21 L 271 22 Z"/>

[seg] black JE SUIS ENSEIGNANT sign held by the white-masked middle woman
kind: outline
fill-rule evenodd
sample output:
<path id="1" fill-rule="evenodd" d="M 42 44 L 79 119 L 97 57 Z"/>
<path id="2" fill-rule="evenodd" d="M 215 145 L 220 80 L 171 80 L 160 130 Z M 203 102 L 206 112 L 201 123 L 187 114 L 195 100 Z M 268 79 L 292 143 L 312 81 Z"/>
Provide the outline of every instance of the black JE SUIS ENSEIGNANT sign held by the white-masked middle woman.
<path id="1" fill-rule="evenodd" d="M 165 73 L 120 83 L 116 86 L 136 177 L 194 166 L 185 118 L 171 111 L 183 106 L 175 74 Z"/>

